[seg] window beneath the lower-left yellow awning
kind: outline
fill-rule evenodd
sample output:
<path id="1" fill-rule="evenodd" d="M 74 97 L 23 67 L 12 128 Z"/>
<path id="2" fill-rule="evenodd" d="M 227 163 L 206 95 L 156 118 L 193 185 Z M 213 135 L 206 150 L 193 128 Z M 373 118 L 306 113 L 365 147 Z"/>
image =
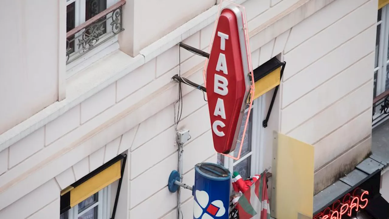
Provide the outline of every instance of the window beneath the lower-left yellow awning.
<path id="1" fill-rule="evenodd" d="M 110 209 L 109 185 L 62 213 L 60 219 L 109 219 Z"/>

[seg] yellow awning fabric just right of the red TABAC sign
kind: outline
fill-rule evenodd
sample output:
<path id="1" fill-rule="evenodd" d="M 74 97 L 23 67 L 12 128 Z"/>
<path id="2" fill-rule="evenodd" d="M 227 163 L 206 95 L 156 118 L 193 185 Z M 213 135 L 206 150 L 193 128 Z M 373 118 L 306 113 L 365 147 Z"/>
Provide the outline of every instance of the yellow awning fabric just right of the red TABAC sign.
<path id="1" fill-rule="evenodd" d="M 265 77 L 259 79 L 254 83 L 255 92 L 254 92 L 254 100 L 258 97 L 261 97 L 267 91 L 272 90 L 277 85 L 280 84 L 280 76 L 281 76 L 281 67 L 278 67 L 274 71 L 267 74 Z"/>

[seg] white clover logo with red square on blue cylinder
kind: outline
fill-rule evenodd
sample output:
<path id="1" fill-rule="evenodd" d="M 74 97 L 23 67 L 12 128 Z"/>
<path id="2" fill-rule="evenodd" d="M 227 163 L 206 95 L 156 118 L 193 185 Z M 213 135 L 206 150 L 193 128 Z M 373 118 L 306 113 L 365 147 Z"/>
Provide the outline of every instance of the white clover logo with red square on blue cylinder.
<path id="1" fill-rule="evenodd" d="M 221 200 L 214 200 L 209 204 L 209 195 L 206 191 L 195 191 L 196 200 L 193 206 L 193 216 L 197 219 L 214 219 L 221 217 L 226 213 L 223 202 Z"/>

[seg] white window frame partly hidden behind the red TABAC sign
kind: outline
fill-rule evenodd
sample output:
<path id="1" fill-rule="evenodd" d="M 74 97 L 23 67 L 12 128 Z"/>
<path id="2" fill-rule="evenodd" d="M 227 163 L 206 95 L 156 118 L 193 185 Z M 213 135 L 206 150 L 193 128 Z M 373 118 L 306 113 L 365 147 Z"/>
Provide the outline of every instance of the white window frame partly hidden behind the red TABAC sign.
<path id="1" fill-rule="evenodd" d="M 242 162 L 243 160 L 247 159 L 251 156 L 251 164 L 250 164 L 250 175 L 249 177 L 253 176 L 254 174 L 260 174 L 261 171 L 264 170 L 263 167 L 263 154 L 264 154 L 264 147 L 263 147 L 263 136 L 264 136 L 264 128 L 262 126 L 262 121 L 265 119 L 265 95 L 262 95 L 255 99 L 252 103 L 252 109 L 251 109 L 251 116 L 252 116 L 252 122 L 251 122 L 251 152 L 245 154 L 243 157 L 241 157 L 239 160 L 234 162 L 234 159 L 230 157 L 226 157 L 224 155 L 222 156 L 222 166 L 226 167 L 230 170 L 230 172 L 233 172 L 234 166 Z M 245 110 L 247 112 L 248 109 Z M 255 134 L 254 134 L 255 133 Z M 231 152 L 230 155 L 233 156 L 234 152 Z"/>

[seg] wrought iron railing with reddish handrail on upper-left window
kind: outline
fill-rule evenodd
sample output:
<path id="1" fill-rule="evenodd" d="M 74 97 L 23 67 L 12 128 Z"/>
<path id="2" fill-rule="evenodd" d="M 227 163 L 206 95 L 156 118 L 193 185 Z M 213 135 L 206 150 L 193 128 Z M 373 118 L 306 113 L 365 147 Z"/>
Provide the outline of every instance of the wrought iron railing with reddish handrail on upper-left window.
<path id="1" fill-rule="evenodd" d="M 66 64 L 123 31 L 121 0 L 66 33 Z"/>

